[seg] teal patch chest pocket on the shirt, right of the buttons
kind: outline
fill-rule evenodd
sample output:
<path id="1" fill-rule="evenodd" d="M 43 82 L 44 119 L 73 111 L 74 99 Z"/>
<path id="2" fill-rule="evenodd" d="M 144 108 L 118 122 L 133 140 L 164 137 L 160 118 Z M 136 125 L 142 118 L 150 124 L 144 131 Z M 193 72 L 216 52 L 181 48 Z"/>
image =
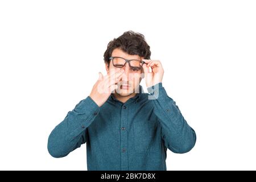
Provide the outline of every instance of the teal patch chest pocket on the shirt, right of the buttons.
<path id="1" fill-rule="evenodd" d="M 160 150 L 160 129 L 156 121 L 133 123 L 134 148 L 136 152 L 154 152 Z"/>

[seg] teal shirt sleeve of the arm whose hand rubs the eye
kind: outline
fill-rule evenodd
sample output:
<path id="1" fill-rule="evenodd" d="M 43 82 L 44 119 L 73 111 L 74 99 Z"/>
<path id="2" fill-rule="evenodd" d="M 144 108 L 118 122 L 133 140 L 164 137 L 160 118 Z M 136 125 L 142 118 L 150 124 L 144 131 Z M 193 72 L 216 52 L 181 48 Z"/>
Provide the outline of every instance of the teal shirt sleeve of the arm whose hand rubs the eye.
<path id="1" fill-rule="evenodd" d="M 49 154 L 61 158 L 85 143 L 86 128 L 99 112 L 100 107 L 90 96 L 80 101 L 49 135 L 47 146 Z"/>

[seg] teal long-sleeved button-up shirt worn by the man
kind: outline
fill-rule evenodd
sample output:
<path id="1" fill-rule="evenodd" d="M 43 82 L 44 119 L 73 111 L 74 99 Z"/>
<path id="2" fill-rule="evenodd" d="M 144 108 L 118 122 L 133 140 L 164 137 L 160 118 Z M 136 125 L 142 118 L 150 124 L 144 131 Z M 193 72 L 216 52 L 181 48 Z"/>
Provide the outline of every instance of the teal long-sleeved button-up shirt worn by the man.
<path id="1" fill-rule="evenodd" d="M 188 152 L 196 134 L 162 82 L 148 93 L 139 87 L 125 103 L 112 94 L 101 107 L 89 96 L 80 101 L 49 135 L 49 154 L 61 158 L 86 143 L 88 170 L 166 170 L 167 148 Z"/>

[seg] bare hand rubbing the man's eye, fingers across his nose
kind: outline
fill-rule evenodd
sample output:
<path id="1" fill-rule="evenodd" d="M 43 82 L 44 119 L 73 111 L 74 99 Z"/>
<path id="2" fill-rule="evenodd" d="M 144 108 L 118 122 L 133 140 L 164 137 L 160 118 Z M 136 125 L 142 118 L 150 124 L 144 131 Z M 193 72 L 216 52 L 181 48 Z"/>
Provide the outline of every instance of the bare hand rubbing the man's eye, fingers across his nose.
<path id="1" fill-rule="evenodd" d="M 116 85 L 122 78 L 124 74 L 123 69 L 115 69 L 114 71 L 109 71 L 108 75 L 103 76 L 99 72 L 99 78 L 97 82 L 93 85 L 92 92 L 90 93 L 90 98 L 100 107 L 106 100 L 108 100 L 110 94 L 113 90 L 117 89 Z"/>

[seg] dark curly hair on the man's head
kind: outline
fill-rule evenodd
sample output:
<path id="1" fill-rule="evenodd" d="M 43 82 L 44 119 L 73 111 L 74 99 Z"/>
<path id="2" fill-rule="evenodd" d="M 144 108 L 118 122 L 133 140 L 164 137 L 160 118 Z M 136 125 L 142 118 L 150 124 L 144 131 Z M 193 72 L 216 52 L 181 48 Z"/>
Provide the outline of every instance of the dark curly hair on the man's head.
<path id="1" fill-rule="evenodd" d="M 119 36 L 117 39 L 113 39 L 109 42 L 108 47 L 104 53 L 104 61 L 109 65 L 109 57 L 115 48 L 120 48 L 122 51 L 128 53 L 129 55 L 139 55 L 144 57 L 144 59 L 150 59 L 150 46 L 148 46 L 144 35 L 134 32 L 127 31 L 123 35 Z"/>

